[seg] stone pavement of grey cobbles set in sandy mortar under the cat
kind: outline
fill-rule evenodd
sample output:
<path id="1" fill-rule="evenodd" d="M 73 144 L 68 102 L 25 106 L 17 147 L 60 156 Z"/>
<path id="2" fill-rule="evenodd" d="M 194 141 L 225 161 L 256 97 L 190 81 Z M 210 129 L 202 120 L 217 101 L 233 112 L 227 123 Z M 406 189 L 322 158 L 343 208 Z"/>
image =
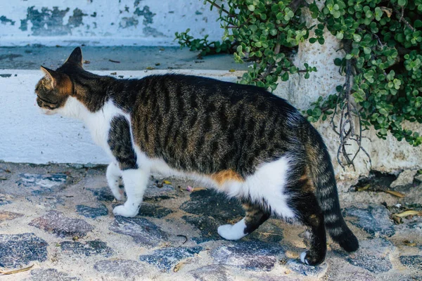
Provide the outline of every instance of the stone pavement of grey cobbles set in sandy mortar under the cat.
<path id="1" fill-rule="evenodd" d="M 151 180 L 139 215 L 115 217 L 104 166 L 0 163 L 0 271 L 32 266 L 0 280 L 422 280 L 422 218 L 392 220 L 421 211 L 416 195 L 347 200 L 359 251 L 328 241 L 326 262 L 312 267 L 298 260 L 302 226 L 271 218 L 240 241 L 222 240 L 217 226 L 243 215 L 236 201 L 177 178 Z"/>

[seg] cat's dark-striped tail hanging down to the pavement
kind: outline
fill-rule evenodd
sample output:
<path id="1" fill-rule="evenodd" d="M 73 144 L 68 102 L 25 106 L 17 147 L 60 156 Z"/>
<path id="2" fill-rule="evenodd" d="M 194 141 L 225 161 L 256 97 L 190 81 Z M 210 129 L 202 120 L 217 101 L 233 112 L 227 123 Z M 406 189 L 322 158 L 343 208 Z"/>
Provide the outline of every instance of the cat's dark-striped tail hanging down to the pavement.
<path id="1" fill-rule="evenodd" d="M 359 242 L 341 215 L 331 157 L 318 131 L 310 124 L 307 131 L 307 167 L 316 188 L 319 207 L 324 213 L 326 230 L 345 251 L 356 251 Z"/>

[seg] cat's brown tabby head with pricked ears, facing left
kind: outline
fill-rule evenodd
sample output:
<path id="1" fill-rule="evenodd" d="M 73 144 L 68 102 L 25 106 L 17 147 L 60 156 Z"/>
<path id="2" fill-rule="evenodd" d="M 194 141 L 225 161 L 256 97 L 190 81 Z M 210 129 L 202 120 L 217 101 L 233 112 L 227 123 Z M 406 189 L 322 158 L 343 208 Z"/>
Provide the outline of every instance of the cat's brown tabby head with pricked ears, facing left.
<path id="1" fill-rule="evenodd" d="M 41 66 L 41 71 L 45 76 L 41 78 L 35 93 L 37 94 L 37 104 L 46 115 L 60 113 L 65 107 L 66 101 L 73 93 L 73 84 L 65 70 L 69 68 L 82 69 L 82 50 L 77 47 L 72 51 L 68 60 L 57 70 L 50 70 Z"/>

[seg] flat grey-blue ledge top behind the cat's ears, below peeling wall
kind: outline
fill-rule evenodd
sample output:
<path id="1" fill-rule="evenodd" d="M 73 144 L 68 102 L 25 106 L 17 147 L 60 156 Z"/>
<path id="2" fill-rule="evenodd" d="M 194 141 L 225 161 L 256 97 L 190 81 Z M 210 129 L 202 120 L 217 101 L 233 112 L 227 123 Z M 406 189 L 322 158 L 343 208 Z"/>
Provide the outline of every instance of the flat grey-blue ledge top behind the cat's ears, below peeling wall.
<path id="1" fill-rule="evenodd" d="M 75 46 L 42 45 L 4 47 L 0 43 L 0 69 L 39 70 L 40 65 L 56 69 L 65 62 L 74 48 Z M 233 55 L 220 54 L 198 58 L 198 52 L 171 46 L 82 46 L 82 53 L 84 68 L 88 71 L 246 70 L 248 67 L 248 64 L 235 63 Z M 41 72 L 39 73 L 41 75 Z"/>

